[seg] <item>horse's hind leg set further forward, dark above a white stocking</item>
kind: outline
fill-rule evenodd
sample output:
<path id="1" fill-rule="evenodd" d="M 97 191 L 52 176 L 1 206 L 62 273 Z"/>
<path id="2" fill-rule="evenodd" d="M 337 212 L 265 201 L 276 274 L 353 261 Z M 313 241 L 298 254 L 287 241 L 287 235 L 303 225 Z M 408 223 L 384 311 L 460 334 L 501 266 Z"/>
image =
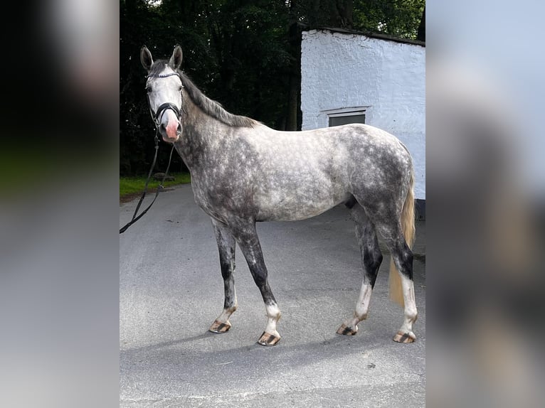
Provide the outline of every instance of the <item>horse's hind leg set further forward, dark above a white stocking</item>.
<path id="1" fill-rule="evenodd" d="M 364 267 L 364 281 L 361 284 L 359 299 L 356 303 L 354 316 L 347 318 L 337 333 L 344 335 L 354 335 L 358 331 L 358 323 L 367 318 L 369 311 L 369 302 L 371 301 L 371 292 L 376 281 L 376 275 L 379 273 L 379 267 L 382 262 L 381 249 L 379 241 L 376 238 L 375 227 L 367 218 L 364 209 L 357 204 L 351 209 L 352 217 L 356 222 L 356 237 L 358 239 L 361 252 L 361 263 Z"/>

